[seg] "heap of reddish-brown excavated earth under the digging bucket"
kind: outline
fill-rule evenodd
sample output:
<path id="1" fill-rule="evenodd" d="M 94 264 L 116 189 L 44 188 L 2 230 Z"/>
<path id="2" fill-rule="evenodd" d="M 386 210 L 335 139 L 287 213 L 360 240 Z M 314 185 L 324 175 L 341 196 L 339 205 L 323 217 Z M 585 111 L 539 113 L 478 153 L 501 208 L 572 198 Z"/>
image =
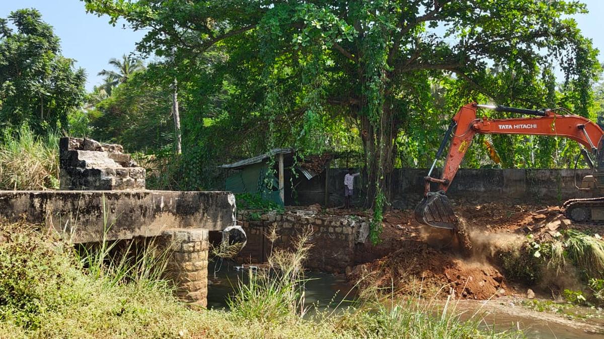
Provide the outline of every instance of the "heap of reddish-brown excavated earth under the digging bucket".
<path id="1" fill-rule="evenodd" d="M 498 251 L 521 246 L 528 233 L 547 238 L 571 226 L 555 206 L 457 201 L 455 211 L 469 227 L 471 256 L 461 255 L 451 231 L 417 223 L 413 211 L 392 211 L 385 215 L 381 244 L 356 249 L 364 264 L 347 269 L 347 279 L 361 280 L 365 288 L 423 297 L 485 300 L 525 295 L 527 287 L 510 282 L 498 268 Z"/>

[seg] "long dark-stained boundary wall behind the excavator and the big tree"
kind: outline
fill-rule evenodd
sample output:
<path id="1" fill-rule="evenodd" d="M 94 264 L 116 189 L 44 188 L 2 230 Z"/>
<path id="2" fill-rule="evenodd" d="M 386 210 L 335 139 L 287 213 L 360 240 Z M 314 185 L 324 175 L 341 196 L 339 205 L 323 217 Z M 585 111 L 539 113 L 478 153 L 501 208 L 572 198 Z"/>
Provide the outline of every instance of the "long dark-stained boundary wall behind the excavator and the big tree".
<path id="1" fill-rule="evenodd" d="M 328 182 L 329 206 L 344 203 L 344 168 L 330 168 Z M 424 190 L 423 177 L 428 170 L 418 168 L 397 168 L 394 170 L 391 201 L 393 208 L 411 209 L 421 200 Z M 440 176 L 440 170 L 434 176 Z M 489 202 L 501 199 L 530 200 L 534 202 L 558 204 L 569 198 L 591 197 L 593 194 L 579 191 L 575 180 L 581 182 L 591 170 L 521 170 L 521 169 L 481 169 L 462 168 L 451 184 L 448 195 L 451 198 L 472 198 L 474 201 Z M 312 180 L 297 185 L 297 201 L 289 199 L 289 204 L 324 204 L 325 176 L 321 174 Z M 356 177 L 353 203 L 357 206 L 364 201 L 362 188 L 364 179 Z M 434 189 L 436 186 L 434 186 Z"/>

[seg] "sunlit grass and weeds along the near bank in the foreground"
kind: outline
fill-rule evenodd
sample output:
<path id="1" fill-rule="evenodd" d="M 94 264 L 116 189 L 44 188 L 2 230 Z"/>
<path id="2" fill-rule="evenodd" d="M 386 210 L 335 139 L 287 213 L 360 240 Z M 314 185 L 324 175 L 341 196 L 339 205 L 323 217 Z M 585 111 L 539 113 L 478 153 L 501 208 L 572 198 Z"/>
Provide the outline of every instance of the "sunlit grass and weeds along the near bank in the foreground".
<path id="1" fill-rule="evenodd" d="M 303 262 L 309 233 L 292 252 L 275 250 L 270 272 L 254 273 L 231 300 L 232 311 L 194 308 L 173 297 L 156 270 L 161 249 L 108 242 L 74 246 L 25 223 L 0 224 L 2 338 L 477 338 L 513 337 L 462 322 L 416 300 L 366 297 L 357 308 L 304 308 Z M 147 244 L 149 245 L 149 244 Z M 123 259 L 119 253 L 130 253 Z M 139 253 L 138 255 L 132 255 Z M 146 257 L 147 259 L 143 259 Z M 155 273 L 150 273 L 153 271 Z M 268 272 L 268 273 L 267 273 Z M 376 294 L 377 296 L 377 294 Z"/>

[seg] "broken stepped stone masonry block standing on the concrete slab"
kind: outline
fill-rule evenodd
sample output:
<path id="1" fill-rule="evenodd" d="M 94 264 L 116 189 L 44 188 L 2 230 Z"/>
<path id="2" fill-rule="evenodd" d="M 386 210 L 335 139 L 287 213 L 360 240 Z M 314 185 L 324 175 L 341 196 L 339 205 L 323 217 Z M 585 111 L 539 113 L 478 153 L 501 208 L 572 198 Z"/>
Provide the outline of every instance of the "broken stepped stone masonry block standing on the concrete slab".
<path id="1" fill-rule="evenodd" d="M 121 145 L 61 138 L 59 180 L 64 190 L 144 189 L 145 169 Z"/>

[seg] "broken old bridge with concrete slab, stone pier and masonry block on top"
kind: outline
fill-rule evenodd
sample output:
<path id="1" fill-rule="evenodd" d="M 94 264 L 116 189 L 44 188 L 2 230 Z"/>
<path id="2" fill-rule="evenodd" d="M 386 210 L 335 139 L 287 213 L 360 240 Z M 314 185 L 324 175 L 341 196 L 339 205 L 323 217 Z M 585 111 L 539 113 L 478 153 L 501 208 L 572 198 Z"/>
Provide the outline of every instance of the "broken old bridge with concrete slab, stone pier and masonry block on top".
<path id="1" fill-rule="evenodd" d="M 62 191 L 0 191 L 0 219 L 42 224 L 74 243 L 155 237 L 170 244 L 179 297 L 207 305 L 208 232 L 235 224 L 230 192 L 149 191 L 120 145 L 60 141 Z M 142 189 L 141 189 L 142 188 Z"/>

